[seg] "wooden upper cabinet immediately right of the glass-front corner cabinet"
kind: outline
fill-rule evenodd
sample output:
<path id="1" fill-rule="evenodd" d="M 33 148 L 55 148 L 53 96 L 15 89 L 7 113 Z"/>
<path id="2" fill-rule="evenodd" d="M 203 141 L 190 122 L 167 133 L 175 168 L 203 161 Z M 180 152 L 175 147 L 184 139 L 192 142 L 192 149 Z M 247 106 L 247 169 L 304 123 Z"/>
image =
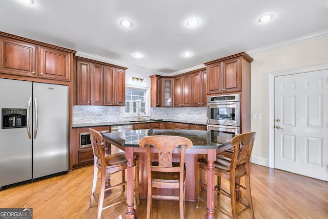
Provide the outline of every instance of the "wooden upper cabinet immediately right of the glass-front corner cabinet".
<path id="1" fill-rule="evenodd" d="M 174 106 L 191 106 L 191 74 L 174 78 Z"/>

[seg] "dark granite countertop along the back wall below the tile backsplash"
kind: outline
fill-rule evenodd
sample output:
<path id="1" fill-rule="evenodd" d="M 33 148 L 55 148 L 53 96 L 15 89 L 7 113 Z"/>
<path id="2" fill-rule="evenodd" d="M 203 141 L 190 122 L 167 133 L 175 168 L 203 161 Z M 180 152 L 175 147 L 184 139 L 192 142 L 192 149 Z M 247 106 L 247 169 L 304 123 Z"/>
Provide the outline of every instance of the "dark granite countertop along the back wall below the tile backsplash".
<path id="1" fill-rule="evenodd" d="M 206 121 L 193 121 L 193 120 L 177 120 L 177 119 L 147 119 L 141 121 L 113 121 L 103 123 L 80 123 L 73 124 L 73 128 L 84 128 L 84 127 L 97 127 L 97 126 L 110 126 L 110 125 L 133 125 L 138 123 L 153 123 L 153 122 L 179 122 L 196 125 L 206 125 Z"/>

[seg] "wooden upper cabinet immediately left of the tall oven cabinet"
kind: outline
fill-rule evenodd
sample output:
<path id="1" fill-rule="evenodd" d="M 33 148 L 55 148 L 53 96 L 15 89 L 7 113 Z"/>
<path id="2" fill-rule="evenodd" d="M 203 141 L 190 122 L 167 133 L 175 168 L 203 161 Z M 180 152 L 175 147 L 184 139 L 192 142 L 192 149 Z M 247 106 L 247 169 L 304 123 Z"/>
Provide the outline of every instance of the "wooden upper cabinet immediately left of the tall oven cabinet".
<path id="1" fill-rule="evenodd" d="M 206 70 L 191 74 L 191 106 L 206 106 L 207 103 Z"/>

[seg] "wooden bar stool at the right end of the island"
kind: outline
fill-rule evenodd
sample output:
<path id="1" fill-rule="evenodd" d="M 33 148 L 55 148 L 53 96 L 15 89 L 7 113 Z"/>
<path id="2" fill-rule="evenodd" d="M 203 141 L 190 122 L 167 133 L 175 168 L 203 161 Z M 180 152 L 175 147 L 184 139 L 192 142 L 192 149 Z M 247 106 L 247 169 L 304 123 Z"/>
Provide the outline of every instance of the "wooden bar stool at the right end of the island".
<path id="1" fill-rule="evenodd" d="M 228 179 L 230 183 L 230 193 L 223 190 L 218 184 L 215 186 L 214 191 L 218 192 L 218 194 L 223 194 L 228 196 L 231 199 L 231 210 L 232 215 L 228 214 L 222 208 L 215 207 L 216 210 L 226 214 L 230 218 L 237 218 L 241 213 L 249 209 L 251 218 L 254 218 L 254 210 L 252 204 L 252 195 L 251 195 L 251 184 L 250 184 L 250 159 L 252 154 L 252 149 L 254 145 L 256 133 L 249 132 L 243 133 L 238 136 L 235 136 L 230 144 L 234 146 L 233 154 L 231 159 L 217 156 L 217 160 L 214 162 L 214 174 L 219 177 L 218 183 L 220 182 L 220 178 Z M 196 207 L 199 206 L 199 201 L 206 202 L 206 200 L 201 199 L 201 195 L 206 192 L 201 191 L 201 186 L 206 187 L 206 184 L 201 182 L 201 171 L 207 171 L 207 160 L 203 159 L 198 161 L 198 172 L 197 172 L 197 204 Z M 237 184 L 237 187 L 241 187 L 246 190 L 247 194 L 247 203 L 244 203 L 242 200 L 236 199 L 236 179 L 240 179 L 241 177 L 245 177 L 245 186 Z M 241 203 L 244 208 L 237 212 L 237 202 Z"/>

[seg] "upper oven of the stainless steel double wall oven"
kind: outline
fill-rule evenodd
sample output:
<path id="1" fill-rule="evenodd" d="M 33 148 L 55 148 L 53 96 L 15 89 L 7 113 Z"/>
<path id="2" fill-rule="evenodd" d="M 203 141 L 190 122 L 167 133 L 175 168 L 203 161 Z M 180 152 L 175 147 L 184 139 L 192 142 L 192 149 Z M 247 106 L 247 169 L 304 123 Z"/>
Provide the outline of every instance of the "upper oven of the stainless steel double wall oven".
<path id="1" fill-rule="evenodd" d="M 239 94 L 209 96 L 207 124 L 240 126 Z"/>

